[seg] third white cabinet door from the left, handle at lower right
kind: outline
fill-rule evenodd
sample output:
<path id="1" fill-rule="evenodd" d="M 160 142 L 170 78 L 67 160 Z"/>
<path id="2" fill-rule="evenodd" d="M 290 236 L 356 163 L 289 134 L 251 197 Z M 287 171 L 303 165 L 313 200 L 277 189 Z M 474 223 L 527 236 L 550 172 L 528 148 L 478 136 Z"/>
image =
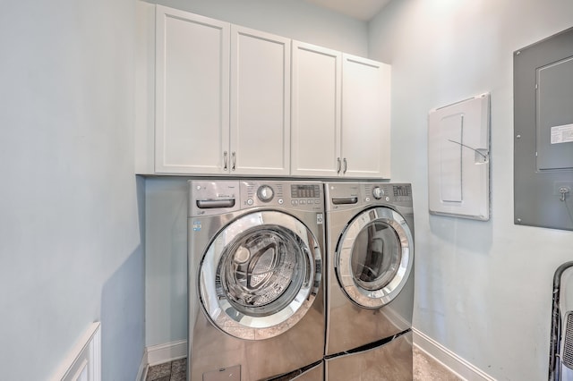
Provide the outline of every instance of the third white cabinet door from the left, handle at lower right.
<path id="1" fill-rule="evenodd" d="M 338 176 L 342 54 L 293 41 L 291 174 Z"/>

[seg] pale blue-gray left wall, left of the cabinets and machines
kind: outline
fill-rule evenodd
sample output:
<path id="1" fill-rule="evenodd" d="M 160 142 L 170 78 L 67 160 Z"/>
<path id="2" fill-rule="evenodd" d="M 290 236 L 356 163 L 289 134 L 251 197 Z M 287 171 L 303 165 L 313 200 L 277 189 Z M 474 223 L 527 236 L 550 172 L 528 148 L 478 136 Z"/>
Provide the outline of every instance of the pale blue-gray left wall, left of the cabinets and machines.
<path id="1" fill-rule="evenodd" d="M 133 0 L 0 12 L 0 378 L 47 379 L 101 321 L 105 380 L 144 348 Z"/>

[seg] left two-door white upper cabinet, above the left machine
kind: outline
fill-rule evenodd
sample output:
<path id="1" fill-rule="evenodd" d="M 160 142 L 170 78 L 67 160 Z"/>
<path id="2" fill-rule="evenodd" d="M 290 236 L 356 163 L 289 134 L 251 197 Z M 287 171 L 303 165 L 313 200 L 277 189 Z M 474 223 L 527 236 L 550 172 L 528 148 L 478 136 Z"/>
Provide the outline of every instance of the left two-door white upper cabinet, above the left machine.
<path id="1" fill-rule="evenodd" d="M 290 39 L 157 5 L 147 135 L 139 173 L 289 174 Z"/>

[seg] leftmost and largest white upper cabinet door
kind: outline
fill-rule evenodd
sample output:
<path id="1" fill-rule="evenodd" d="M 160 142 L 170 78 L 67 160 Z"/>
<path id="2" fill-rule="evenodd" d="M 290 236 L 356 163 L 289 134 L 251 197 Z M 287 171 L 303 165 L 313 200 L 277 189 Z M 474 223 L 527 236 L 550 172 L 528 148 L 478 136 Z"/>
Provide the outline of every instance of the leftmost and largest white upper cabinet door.
<path id="1" fill-rule="evenodd" d="M 156 21 L 155 172 L 224 173 L 230 24 L 161 5 Z"/>

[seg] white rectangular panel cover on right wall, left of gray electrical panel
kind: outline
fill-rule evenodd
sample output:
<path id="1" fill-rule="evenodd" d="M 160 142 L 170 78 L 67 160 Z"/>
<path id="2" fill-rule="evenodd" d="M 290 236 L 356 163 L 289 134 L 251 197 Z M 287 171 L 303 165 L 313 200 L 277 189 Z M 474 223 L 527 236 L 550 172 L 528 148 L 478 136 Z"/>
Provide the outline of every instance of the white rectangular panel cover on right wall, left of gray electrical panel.
<path id="1" fill-rule="evenodd" d="M 428 205 L 431 214 L 490 218 L 490 95 L 428 114 Z"/>

